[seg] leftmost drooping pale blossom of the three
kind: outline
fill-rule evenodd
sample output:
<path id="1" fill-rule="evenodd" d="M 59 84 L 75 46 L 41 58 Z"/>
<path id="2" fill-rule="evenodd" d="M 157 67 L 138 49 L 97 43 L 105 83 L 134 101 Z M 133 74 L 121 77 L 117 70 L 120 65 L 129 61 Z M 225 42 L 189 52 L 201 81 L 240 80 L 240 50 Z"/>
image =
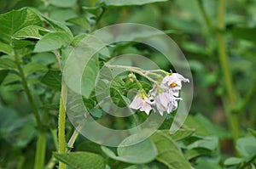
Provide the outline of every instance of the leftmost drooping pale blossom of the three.
<path id="1" fill-rule="evenodd" d="M 132 100 L 129 107 L 134 110 L 145 111 L 149 115 L 150 110 L 153 109 L 154 101 L 150 101 L 145 95 L 141 97 L 139 94 Z"/>

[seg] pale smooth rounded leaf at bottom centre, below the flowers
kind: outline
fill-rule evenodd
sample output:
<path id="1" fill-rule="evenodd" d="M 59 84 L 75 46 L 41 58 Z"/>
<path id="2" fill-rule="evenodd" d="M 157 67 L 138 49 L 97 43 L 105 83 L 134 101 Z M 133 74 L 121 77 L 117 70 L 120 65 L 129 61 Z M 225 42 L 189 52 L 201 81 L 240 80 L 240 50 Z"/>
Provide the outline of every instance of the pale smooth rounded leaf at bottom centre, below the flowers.
<path id="1" fill-rule="evenodd" d="M 119 145 L 117 149 L 118 155 L 115 155 L 111 149 L 104 146 L 102 146 L 102 150 L 106 155 L 116 161 L 123 161 L 132 164 L 143 164 L 154 160 L 157 155 L 157 150 L 149 139 L 146 139 L 138 144 L 122 147 L 125 144 L 129 144 L 128 142 L 130 141 L 132 140 L 125 139 L 125 141 Z"/>

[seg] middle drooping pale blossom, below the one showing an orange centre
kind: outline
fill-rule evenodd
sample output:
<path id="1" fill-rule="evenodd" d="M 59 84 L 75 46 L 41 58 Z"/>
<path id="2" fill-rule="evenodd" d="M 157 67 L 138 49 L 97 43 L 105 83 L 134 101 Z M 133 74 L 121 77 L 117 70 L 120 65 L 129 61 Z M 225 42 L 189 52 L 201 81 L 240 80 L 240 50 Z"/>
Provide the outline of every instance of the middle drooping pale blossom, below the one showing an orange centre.
<path id="1" fill-rule="evenodd" d="M 181 98 L 174 97 L 172 93 L 159 93 L 155 97 L 155 104 L 160 115 L 163 115 L 164 111 L 170 114 L 172 111 L 177 110 L 177 100 L 181 100 Z"/>

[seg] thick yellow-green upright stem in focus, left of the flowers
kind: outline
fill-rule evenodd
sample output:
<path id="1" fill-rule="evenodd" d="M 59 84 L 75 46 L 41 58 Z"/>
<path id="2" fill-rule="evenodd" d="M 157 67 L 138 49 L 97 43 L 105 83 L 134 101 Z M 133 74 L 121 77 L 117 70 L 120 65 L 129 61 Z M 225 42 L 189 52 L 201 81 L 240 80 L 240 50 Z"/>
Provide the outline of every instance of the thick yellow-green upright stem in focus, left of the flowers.
<path id="1" fill-rule="evenodd" d="M 62 82 L 61 85 L 61 99 L 59 109 L 58 121 L 58 138 L 59 138 L 59 153 L 66 152 L 66 137 L 65 137 L 65 123 L 66 123 L 66 101 L 67 101 L 67 85 Z M 66 169 L 66 165 L 60 161 L 59 169 Z"/>

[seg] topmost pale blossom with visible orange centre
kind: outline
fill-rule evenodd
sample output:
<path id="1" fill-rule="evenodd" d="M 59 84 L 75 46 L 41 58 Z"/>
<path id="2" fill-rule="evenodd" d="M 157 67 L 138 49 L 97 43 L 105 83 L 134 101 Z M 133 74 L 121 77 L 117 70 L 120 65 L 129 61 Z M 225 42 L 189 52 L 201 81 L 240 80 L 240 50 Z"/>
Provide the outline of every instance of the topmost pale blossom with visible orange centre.
<path id="1" fill-rule="evenodd" d="M 162 87 L 165 91 L 171 91 L 174 96 L 178 96 L 179 90 L 182 87 L 182 82 L 189 82 L 189 79 L 178 73 L 172 73 L 172 75 L 164 77 L 160 87 Z"/>

